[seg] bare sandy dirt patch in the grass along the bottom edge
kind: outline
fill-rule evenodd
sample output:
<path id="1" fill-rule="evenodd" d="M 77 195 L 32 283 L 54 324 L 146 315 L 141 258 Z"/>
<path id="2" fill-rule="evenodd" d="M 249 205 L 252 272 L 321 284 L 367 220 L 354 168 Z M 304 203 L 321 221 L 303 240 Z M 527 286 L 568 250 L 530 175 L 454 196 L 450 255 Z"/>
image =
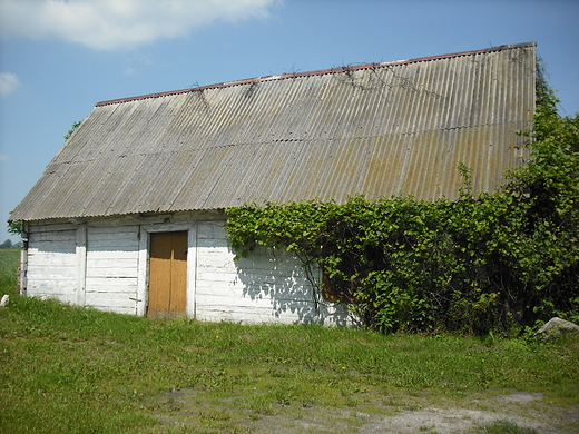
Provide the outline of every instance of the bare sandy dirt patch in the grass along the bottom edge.
<path id="1" fill-rule="evenodd" d="M 193 391 L 166 394 L 164 400 L 166 404 L 158 407 L 163 414 L 156 416 L 164 430 L 171 425 L 194 426 L 195 432 L 200 433 L 475 434 L 483 432 L 482 425 L 497 421 L 530 427 L 540 434 L 579 432 L 579 406 L 549 407 L 542 394 L 528 392 L 440 401 L 434 405 L 432 398 L 421 397 L 403 400 L 400 404 L 370 405 L 366 402 L 351 410 L 297 403 L 246 405 L 229 398 L 216 412 L 215 403 L 208 406 L 196 400 Z"/>

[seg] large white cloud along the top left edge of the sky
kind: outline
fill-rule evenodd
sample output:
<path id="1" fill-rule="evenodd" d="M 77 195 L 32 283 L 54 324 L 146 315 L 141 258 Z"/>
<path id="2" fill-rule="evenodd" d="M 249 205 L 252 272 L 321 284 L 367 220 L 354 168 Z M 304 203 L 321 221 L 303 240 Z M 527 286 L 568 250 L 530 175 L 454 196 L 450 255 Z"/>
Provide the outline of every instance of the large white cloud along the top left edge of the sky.
<path id="1" fill-rule="evenodd" d="M 188 36 L 216 20 L 267 17 L 279 0 L 0 0 L 2 37 L 59 38 L 99 50 Z"/>

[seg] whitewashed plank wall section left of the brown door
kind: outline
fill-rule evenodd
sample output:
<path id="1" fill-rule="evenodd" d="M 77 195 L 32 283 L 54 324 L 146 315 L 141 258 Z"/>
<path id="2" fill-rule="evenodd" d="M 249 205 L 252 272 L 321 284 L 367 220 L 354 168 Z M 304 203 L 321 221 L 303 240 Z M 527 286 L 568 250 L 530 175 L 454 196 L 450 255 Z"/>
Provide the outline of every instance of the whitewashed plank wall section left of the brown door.
<path id="1" fill-rule="evenodd" d="M 136 314 L 138 226 L 43 223 L 28 230 L 27 295 Z"/>

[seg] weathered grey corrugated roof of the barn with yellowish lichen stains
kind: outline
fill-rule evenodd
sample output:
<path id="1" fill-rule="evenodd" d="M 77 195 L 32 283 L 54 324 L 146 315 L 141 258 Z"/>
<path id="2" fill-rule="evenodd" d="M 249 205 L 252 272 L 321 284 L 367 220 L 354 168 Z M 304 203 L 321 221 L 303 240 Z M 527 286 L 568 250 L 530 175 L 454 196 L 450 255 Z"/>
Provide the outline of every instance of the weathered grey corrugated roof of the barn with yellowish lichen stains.
<path id="1" fill-rule="evenodd" d="M 455 198 L 523 164 L 536 43 L 97 103 L 12 214 L 78 218 L 266 200 Z"/>

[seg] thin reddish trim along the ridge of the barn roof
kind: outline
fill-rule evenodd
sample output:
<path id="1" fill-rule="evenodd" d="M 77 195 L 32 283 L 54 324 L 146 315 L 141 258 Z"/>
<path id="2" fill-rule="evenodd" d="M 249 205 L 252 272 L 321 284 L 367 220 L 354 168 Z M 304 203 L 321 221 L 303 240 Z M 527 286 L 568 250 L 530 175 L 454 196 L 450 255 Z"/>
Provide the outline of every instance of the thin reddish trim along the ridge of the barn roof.
<path id="1" fill-rule="evenodd" d="M 381 63 L 365 63 L 365 65 L 338 67 L 338 68 L 332 68 L 332 69 L 321 69 L 317 71 L 308 71 L 308 72 L 290 72 L 290 73 L 275 75 L 275 76 L 255 77 L 255 78 L 248 78 L 248 79 L 244 79 L 244 80 L 227 81 L 227 82 L 220 82 L 220 83 L 208 85 L 208 86 L 199 86 L 199 87 L 189 88 L 189 89 L 173 90 L 173 91 L 168 91 L 168 92 L 149 93 L 149 95 L 143 95 L 139 97 L 111 99 L 108 101 L 97 102 L 95 105 L 95 107 L 109 106 L 112 103 L 121 103 L 121 102 L 129 102 L 129 101 L 137 101 L 140 99 L 148 99 L 148 98 L 160 98 L 160 97 L 167 97 L 167 96 L 171 96 L 171 95 L 195 92 L 195 91 L 200 91 L 200 90 L 206 90 L 206 89 L 218 89 L 218 88 L 225 88 L 225 87 L 230 87 L 230 86 L 248 85 L 252 82 L 259 82 L 259 81 L 282 80 L 282 79 L 286 79 L 286 78 L 296 78 L 296 77 L 323 76 L 326 73 L 357 71 L 361 69 L 369 69 L 369 68 L 376 68 L 376 67 L 382 68 L 382 67 L 398 66 L 398 65 L 404 65 L 404 63 L 418 63 L 418 62 L 431 61 L 431 60 L 450 59 L 450 58 L 455 58 L 455 57 L 461 57 L 461 56 L 472 56 L 472 55 L 480 55 L 480 53 L 492 52 L 492 51 L 501 51 L 501 50 L 511 49 L 511 48 L 536 47 L 536 46 L 537 46 L 537 42 L 513 43 L 513 45 L 509 45 L 509 46 L 484 48 L 481 50 L 461 51 L 461 52 L 454 52 L 454 53 L 449 53 L 449 55 L 439 55 L 439 56 L 429 56 L 429 57 L 421 57 L 421 58 L 409 59 L 409 60 L 396 60 L 396 61 L 381 62 Z"/>

